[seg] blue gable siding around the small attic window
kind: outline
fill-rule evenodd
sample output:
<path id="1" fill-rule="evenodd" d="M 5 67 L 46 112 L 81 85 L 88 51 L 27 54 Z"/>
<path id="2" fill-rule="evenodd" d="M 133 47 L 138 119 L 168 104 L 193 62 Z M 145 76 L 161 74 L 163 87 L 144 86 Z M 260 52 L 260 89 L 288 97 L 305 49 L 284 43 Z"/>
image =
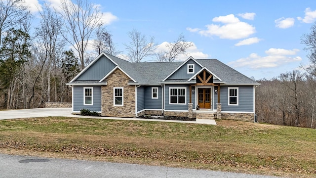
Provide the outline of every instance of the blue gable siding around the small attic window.
<path id="1" fill-rule="evenodd" d="M 194 62 L 194 60 L 190 59 L 187 63 L 185 63 L 180 69 L 178 69 L 175 73 L 173 73 L 168 79 L 190 79 L 195 74 L 188 74 L 188 64 L 194 65 L 194 72 L 197 73 L 202 68 Z"/>

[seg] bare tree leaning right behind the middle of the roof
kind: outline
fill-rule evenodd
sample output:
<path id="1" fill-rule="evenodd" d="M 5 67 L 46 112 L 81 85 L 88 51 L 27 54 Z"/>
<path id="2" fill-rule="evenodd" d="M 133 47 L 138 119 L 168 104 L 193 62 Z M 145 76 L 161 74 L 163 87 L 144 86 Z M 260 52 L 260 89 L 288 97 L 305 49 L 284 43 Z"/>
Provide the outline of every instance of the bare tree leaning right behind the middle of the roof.
<path id="1" fill-rule="evenodd" d="M 166 45 L 167 51 L 160 51 L 156 54 L 158 61 L 172 62 L 177 59 L 180 54 L 185 54 L 189 47 L 193 46 L 192 42 L 187 42 L 182 34 L 174 43 L 168 43 Z"/>

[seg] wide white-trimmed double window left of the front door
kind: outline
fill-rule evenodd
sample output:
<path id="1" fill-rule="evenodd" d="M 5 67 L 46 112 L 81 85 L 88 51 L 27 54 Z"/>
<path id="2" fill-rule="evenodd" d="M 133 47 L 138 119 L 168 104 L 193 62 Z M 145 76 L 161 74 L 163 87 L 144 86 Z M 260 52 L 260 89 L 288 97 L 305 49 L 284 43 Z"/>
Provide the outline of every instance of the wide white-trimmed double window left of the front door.
<path id="1" fill-rule="evenodd" d="M 186 88 L 169 88 L 169 104 L 186 104 Z"/>

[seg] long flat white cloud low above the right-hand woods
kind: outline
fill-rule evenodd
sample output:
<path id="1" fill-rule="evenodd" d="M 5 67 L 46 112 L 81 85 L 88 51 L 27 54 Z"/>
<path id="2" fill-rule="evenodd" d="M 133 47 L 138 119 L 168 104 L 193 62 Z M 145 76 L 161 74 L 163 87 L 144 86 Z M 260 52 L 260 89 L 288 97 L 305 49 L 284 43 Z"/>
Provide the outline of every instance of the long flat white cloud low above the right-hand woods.
<path id="1" fill-rule="evenodd" d="M 252 69 L 277 67 L 291 62 L 301 61 L 302 58 L 300 56 L 291 56 L 296 55 L 298 51 L 298 49 L 270 48 L 265 51 L 267 56 L 251 53 L 248 57 L 240 58 L 228 64 L 233 67 L 250 67 Z"/>

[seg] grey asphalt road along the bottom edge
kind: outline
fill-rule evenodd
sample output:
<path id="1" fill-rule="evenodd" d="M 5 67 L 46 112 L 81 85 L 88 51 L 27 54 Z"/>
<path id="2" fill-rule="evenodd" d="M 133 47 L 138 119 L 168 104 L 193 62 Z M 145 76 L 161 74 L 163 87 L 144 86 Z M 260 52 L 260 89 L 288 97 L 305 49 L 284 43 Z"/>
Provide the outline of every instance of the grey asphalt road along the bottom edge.
<path id="1" fill-rule="evenodd" d="M 206 170 L 0 154 L 0 178 L 276 178 Z"/>

